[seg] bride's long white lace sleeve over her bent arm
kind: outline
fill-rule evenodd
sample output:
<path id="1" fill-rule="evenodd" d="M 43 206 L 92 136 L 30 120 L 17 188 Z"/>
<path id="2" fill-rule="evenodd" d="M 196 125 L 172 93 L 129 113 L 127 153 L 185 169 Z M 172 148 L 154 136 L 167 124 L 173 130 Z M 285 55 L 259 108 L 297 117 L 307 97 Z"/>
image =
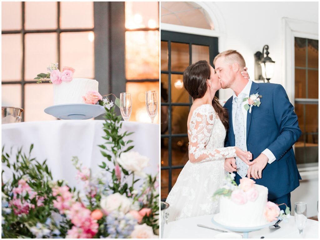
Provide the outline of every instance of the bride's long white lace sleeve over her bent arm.
<path id="1" fill-rule="evenodd" d="M 208 105 L 209 106 L 209 105 Z M 213 126 L 216 121 L 216 114 L 212 108 L 198 107 L 193 113 L 189 123 L 189 161 L 200 163 L 236 156 L 235 147 L 222 147 L 217 149 L 207 149 Z"/>

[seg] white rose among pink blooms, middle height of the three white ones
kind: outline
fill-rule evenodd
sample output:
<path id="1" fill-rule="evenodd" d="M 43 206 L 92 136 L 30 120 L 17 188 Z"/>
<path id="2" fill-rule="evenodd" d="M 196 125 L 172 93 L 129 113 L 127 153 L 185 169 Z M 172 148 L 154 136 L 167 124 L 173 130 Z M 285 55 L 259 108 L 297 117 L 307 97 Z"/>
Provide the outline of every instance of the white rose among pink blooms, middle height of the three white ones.
<path id="1" fill-rule="evenodd" d="M 118 210 L 120 207 L 120 211 L 127 213 L 130 210 L 131 204 L 132 201 L 120 193 L 111 194 L 105 198 L 102 198 L 100 201 L 101 208 L 107 212 Z"/>

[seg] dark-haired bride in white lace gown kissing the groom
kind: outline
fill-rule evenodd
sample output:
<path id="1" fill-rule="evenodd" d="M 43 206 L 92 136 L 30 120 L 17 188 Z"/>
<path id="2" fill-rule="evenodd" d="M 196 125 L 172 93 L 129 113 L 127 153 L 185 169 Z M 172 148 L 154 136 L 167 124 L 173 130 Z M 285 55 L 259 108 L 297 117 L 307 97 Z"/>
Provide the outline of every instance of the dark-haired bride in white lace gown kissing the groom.
<path id="1" fill-rule="evenodd" d="M 194 99 L 188 116 L 189 161 L 167 197 L 168 221 L 217 213 L 219 201 L 212 196 L 221 187 L 225 159 L 238 156 L 248 165 L 252 159 L 250 152 L 224 147 L 228 112 L 214 96 L 221 84 L 208 62 L 188 66 L 183 84 Z"/>

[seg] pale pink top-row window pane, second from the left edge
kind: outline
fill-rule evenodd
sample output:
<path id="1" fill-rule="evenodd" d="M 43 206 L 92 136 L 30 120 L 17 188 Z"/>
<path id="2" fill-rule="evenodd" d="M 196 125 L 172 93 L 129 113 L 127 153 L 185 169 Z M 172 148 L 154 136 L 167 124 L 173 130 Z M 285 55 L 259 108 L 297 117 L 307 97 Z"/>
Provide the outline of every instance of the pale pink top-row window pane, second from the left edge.
<path id="1" fill-rule="evenodd" d="M 58 27 L 57 2 L 26 2 L 25 14 L 25 29 L 56 29 Z"/>

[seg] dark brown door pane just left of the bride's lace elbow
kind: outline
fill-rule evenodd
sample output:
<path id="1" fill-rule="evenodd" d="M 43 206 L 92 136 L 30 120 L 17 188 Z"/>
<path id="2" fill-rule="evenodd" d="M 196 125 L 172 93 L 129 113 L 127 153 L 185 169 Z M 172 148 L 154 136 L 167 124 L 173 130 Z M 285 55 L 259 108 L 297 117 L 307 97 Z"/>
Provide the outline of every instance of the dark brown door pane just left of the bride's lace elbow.
<path id="1" fill-rule="evenodd" d="M 172 166 L 173 165 L 185 165 L 189 160 L 188 137 L 172 137 L 171 140 L 171 155 L 172 155 Z"/>

